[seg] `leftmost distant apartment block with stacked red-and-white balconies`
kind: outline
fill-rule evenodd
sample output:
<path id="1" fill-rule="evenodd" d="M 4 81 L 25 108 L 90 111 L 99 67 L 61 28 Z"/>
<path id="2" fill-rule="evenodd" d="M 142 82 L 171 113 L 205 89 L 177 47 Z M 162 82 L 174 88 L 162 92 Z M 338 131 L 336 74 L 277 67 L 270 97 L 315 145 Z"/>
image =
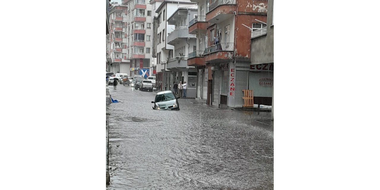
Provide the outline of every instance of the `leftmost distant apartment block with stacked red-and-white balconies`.
<path id="1" fill-rule="evenodd" d="M 130 73 L 130 61 L 124 53 L 127 43 L 124 23 L 128 19 L 125 10 L 127 6 L 113 3 L 109 16 L 111 31 L 108 39 L 108 55 L 112 60 L 111 72 L 113 73 Z"/>

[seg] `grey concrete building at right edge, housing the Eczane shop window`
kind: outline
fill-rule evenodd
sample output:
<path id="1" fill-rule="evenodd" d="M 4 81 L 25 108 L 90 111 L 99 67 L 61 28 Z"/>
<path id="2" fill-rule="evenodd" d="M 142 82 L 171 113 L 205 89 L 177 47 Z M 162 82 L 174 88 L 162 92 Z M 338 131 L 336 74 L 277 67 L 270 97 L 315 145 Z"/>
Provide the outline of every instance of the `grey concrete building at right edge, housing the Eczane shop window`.
<path id="1" fill-rule="evenodd" d="M 256 23 L 252 29 L 249 89 L 255 104 L 272 106 L 273 119 L 273 0 L 268 0 L 266 24 Z"/>

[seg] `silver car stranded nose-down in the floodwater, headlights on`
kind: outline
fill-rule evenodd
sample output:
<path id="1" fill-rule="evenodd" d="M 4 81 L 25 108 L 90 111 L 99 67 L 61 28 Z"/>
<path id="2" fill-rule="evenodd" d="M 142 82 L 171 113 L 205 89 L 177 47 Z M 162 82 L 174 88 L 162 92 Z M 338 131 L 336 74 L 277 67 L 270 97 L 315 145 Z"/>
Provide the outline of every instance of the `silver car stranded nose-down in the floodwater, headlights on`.
<path id="1" fill-rule="evenodd" d="M 173 110 L 179 110 L 179 103 L 176 96 L 174 96 L 173 92 L 170 90 L 158 92 L 154 101 L 153 109 L 173 109 Z"/>

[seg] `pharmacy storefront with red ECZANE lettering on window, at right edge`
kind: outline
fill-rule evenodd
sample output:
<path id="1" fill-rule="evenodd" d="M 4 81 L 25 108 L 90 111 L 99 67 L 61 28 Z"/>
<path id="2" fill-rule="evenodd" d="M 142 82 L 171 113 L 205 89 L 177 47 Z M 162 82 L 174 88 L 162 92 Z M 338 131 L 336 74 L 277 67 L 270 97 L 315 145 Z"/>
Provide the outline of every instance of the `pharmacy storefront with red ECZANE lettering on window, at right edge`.
<path id="1" fill-rule="evenodd" d="M 272 105 L 273 63 L 250 65 L 249 89 L 253 90 L 253 103 Z"/>

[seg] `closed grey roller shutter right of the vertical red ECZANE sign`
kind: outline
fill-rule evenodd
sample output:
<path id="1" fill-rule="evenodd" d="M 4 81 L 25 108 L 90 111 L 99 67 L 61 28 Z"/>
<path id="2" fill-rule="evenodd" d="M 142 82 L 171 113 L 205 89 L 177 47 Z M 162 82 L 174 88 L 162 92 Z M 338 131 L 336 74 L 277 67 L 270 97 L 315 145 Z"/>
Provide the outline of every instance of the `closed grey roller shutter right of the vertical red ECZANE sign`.
<path id="1" fill-rule="evenodd" d="M 243 89 L 248 89 L 248 71 L 236 70 L 235 107 L 244 105 Z"/>

